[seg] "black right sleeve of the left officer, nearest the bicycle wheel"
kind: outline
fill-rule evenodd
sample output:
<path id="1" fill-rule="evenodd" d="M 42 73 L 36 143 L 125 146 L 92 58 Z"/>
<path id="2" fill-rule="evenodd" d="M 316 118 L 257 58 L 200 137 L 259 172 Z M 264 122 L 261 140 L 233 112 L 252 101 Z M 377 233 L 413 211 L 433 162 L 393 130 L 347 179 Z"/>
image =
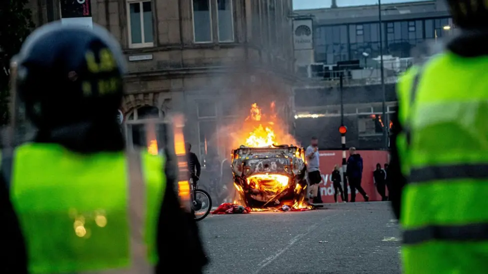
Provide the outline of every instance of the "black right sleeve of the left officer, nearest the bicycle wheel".
<path id="1" fill-rule="evenodd" d="M 156 274 L 201 274 L 208 262 L 196 222 L 191 214 L 180 208 L 171 180 L 168 180 L 159 214 L 157 251 Z M 175 266 L 184 269 L 175 271 Z"/>

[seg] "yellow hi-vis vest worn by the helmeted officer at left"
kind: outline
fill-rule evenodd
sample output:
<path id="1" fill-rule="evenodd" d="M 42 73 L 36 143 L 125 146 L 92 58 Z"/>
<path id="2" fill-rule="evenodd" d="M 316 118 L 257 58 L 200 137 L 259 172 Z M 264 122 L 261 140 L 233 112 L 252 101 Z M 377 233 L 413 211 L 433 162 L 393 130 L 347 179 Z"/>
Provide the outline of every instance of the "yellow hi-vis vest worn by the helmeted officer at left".
<path id="1" fill-rule="evenodd" d="M 163 159 L 134 154 L 37 143 L 14 150 L 10 197 L 30 273 L 152 273 Z"/>

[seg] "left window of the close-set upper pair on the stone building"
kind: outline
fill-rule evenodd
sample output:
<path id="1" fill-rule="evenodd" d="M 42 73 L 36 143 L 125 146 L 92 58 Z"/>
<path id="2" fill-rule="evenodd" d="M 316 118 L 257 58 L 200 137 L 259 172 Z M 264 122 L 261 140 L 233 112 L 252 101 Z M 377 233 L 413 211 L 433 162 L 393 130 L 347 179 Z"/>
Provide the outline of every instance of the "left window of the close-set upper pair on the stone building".
<path id="1" fill-rule="evenodd" d="M 212 41 L 211 0 L 192 0 L 195 43 Z"/>

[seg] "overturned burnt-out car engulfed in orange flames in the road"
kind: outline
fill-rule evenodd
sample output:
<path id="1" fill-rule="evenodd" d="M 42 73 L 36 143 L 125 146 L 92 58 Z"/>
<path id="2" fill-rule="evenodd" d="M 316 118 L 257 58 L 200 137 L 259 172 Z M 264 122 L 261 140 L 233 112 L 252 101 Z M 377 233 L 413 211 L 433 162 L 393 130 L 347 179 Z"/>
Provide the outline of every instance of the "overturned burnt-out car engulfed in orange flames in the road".
<path id="1" fill-rule="evenodd" d="M 279 120 L 274 107 L 272 102 L 270 115 L 265 115 L 256 103 L 251 105 L 242 125 L 240 136 L 244 138 L 236 138 L 241 145 L 231 154 L 234 186 L 242 203 L 253 210 L 284 205 L 295 210 L 308 209 L 304 150 L 276 145 L 296 141 L 286 133 L 285 123 Z"/>

